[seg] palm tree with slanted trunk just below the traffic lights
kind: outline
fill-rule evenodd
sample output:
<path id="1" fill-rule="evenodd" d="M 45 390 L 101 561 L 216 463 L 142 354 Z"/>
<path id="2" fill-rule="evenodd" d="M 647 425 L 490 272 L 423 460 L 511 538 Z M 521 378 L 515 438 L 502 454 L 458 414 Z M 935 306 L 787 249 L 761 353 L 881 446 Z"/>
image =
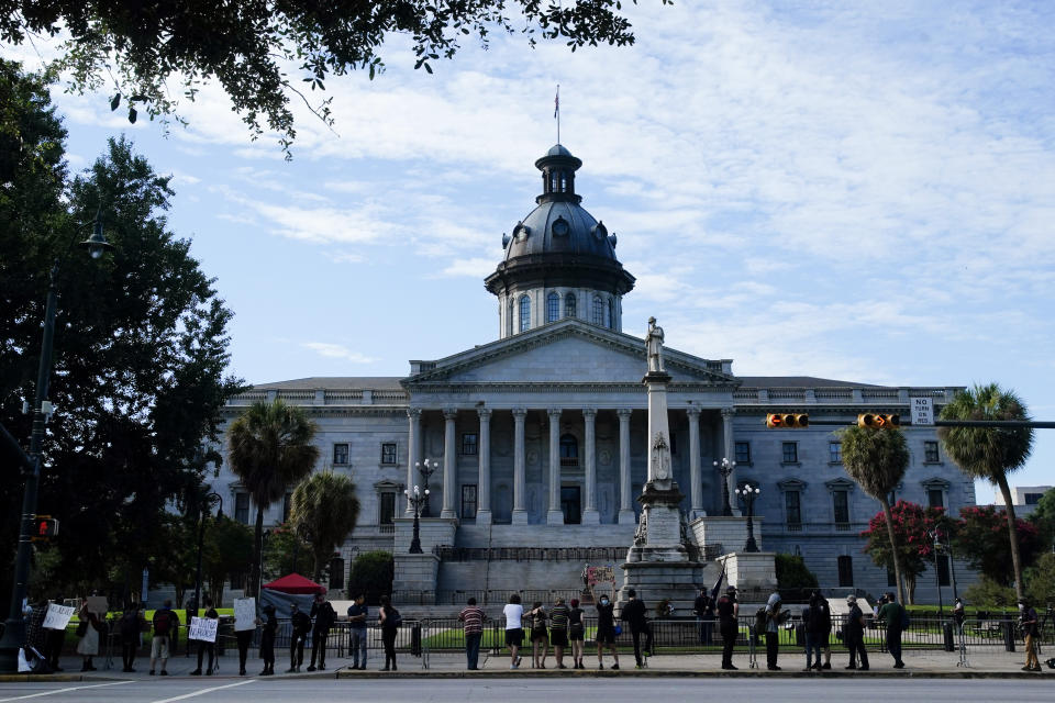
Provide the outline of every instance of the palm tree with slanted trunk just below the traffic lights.
<path id="1" fill-rule="evenodd" d="M 898 599 L 904 603 L 904 581 L 901 578 L 901 557 L 893 536 L 890 515 L 890 491 L 897 488 L 909 467 L 909 449 L 900 429 L 847 427 L 839 433 L 843 442 L 843 467 L 849 478 L 879 501 L 890 538 L 893 578 L 898 582 Z"/>

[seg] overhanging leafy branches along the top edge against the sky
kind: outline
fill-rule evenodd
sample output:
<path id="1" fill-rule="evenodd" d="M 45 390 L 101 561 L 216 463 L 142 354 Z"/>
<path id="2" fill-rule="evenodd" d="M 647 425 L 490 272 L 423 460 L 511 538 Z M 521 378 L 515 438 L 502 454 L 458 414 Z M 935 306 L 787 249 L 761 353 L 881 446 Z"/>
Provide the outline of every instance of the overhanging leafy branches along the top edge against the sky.
<path id="1" fill-rule="evenodd" d="M 193 100 L 203 82 L 215 79 L 254 136 L 266 124 L 288 150 L 296 136 L 290 101 L 303 101 L 332 124 L 332 98 L 313 104 L 304 90 L 321 94 L 331 75 L 355 69 L 373 79 L 385 68 L 381 47 L 395 36 L 410 40 L 414 68 L 431 74 L 430 62 L 452 58 L 474 36 L 486 47 L 495 31 L 526 34 L 532 46 L 540 36 L 560 40 L 573 52 L 587 44 L 633 44 L 620 11 L 620 0 L 0 0 L 0 37 L 20 44 L 65 30 L 70 38 L 58 66 L 71 72 L 71 86 L 84 91 L 112 85 L 111 108 L 124 98 L 132 122 L 137 110 L 152 119 L 176 113 L 170 82 L 182 83 L 184 97 Z"/>

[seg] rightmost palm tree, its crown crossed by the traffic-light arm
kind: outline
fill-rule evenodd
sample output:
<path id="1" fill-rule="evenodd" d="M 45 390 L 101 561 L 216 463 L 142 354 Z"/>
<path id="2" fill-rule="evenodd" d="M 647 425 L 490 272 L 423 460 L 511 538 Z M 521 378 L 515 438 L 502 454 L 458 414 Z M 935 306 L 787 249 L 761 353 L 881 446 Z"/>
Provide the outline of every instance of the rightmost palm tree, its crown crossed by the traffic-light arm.
<path id="1" fill-rule="evenodd" d="M 975 386 L 956 393 L 942 409 L 942 420 L 1029 421 L 1025 405 L 1013 391 L 1002 391 L 996 383 Z M 1019 532 L 1008 472 L 1020 468 L 1033 450 L 1032 427 L 939 427 L 945 454 L 959 470 L 975 479 L 985 479 L 1000 487 L 1007 506 L 1008 534 L 1011 538 L 1011 563 L 1014 568 L 1014 592 L 1022 598 L 1022 557 Z"/>

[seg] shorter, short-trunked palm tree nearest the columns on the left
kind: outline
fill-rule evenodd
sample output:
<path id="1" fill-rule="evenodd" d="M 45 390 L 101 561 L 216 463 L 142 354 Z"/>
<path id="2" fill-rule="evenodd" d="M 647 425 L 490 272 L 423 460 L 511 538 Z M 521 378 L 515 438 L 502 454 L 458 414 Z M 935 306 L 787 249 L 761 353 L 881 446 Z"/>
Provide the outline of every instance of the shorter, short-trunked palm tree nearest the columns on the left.
<path id="1" fill-rule="evenodd" d="M 293 490 L 289 520 L 299 534 L 311 540 L 315 580 L 322 578 L 326 561 L 333 550 L 344 544 L 358 516 L 355 483 L 344 475 L 313 473 Z"/>

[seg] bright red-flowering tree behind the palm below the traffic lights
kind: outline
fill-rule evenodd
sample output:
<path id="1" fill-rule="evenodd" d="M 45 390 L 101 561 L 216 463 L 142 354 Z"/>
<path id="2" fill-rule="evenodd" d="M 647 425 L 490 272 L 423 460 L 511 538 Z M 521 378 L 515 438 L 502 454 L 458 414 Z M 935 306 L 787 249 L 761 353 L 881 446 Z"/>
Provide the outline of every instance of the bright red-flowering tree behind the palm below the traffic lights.
<path id="1" fill-rule="evenodd" d="M 898 501 L 890 506 L 890 516 L 893 520 L 895 544 L 898 545 L 898 556 L 901 560 L 901 574 L 904 577 L 907 595 L 910 605 L 915 602 L 915 580 L 934 562 L 934 539 L 930 533 L 935 527 L 943 527 L 947 534 L 952 521 L 941 507 L 923 507 L 908 501 Z M 886 514 L 882 512 L 868 521 L 868 529 L 860 533 L 868 539 L 865 554 L 871 557 L 876 566 L 893 569 L 893 559 L 890 554 L 890 536 L 887 531 Z"/>

